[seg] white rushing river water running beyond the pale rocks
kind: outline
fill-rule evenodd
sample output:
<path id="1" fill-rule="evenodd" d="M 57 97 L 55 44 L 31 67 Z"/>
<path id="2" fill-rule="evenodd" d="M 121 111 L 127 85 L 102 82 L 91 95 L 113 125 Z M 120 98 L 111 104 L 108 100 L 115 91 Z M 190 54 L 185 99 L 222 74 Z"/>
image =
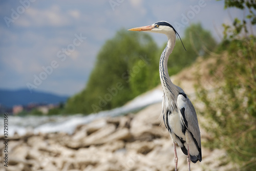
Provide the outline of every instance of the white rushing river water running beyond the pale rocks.
<path id="1" fill-rule="evenodd" d="M 77 125 L 89 123 L 101 117 L 115 117 L 130 112 L 138 111 L 145 106 L 162 101 L 163 93 L 155 89 L 146 94 L 140 95 L 120 108 L 110 111 L 102 111 L 97 114 L 84 116 L 82 114 L 68 116 L 9 116 L 8 117 L 8 136 L 24 135 L 28 132 L 38 134 L 65 132 L 72 134 Z M 0 132 L 4 132 L 3 121 L 1 122 Z"/>

